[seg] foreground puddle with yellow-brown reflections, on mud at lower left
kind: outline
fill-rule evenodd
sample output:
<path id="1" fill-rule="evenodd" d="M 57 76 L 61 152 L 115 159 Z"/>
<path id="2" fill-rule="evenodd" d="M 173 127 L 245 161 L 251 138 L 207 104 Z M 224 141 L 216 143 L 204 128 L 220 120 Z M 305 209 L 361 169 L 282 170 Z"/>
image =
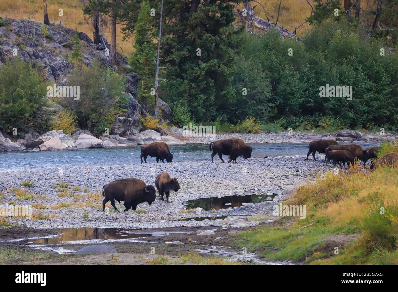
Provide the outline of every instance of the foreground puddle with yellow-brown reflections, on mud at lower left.
<path id="1" fill-rule="evenodd" d="M 134 238 L 151 236 L 148 233 L 133 233 L 132 229 L 119 228 L 65 228 L 53 229 L 60 233 L 58 236 L 39 238 L 32 243 L 35 244 L 76 244 L 76 243 L 103 243 L 126 241 Z"/>

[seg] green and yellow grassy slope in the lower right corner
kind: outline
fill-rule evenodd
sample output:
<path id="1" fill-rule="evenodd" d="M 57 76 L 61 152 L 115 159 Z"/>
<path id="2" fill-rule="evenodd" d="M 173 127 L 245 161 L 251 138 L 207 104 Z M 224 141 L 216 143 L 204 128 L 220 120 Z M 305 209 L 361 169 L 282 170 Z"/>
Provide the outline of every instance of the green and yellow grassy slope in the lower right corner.
<path id="1" fill-rule="evenodd" d="M 270 260 L 312 264 L 398 264 L 398 169 L 364 173 L 330 172 L 298 189 L 286 205 L 306 205 L 306 219 L 285 217 L 283 224 L 240 234 L 240 245 Z M 380 214 L 384 207 L 385 214 Z M 286 222 L 288 221 L 288 222 Z M 308 227 L 309 224 L 313 224 Z M 302 228 L 304 227 L 304 228 Z M 302 228 L 298 230 L 299 228 Z M 357 234 L 349 244 L 328 236 Z M 326 238 L 326 239 L 325 239 Z M 339 254 L 334 247 L 339 246 Z"/>

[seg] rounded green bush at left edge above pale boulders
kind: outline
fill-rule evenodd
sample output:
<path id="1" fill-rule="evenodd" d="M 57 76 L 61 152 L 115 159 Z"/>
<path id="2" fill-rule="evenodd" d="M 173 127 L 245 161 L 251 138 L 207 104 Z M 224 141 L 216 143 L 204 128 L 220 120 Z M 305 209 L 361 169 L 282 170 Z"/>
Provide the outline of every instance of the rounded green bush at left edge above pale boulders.
<path id="1" fill-rule="evenodd" d="M 0 80 L 0 128 L 47 128 L 47 85 L 41 67 L 14 58 L 0 67 Z"/>

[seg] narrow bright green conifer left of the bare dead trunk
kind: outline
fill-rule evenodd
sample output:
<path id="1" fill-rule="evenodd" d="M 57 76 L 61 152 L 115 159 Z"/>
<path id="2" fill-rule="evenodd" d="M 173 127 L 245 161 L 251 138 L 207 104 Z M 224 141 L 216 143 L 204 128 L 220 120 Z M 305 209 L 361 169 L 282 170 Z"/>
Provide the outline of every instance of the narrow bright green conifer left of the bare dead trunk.
<path id="1" fill-rule="evenodd" d="M 150 6 L 148 2 L 142 1 L 136 25 L 135 51 L 131 54 L 129 62 L 140 77 L 138 99 L 148 106 L 153 103 L 151 88 L 154 87 L 156 70 L 154 63 L 156 43 L 154 42 L 153 24 L 154 17 L 150 15 Z"/>

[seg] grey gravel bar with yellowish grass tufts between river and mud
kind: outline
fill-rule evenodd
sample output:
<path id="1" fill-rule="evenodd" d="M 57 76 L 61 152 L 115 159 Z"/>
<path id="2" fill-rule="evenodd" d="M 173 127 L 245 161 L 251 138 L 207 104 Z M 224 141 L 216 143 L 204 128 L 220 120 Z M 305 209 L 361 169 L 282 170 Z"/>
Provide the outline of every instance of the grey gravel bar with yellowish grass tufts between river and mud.
<path id="1" fill-rule="evenodd" d="M 33 219 L 11 219 L 11 222 L 33 228 L 162 228 L 213 224 L 228 228 L 275 219 L 271 216 L 271 208 L 282 198 L 284 190 L 327 169 L 330 167 L 325 167 L 320 161 L 306 161 L 305 155 L 253 157 L 239 160 L 238 164 L 185 161 L 93 167 L 66 165 L 62 173 L 58 168 L 51 167 L 0 172 L 0 190 L 3 193 L 3 205 L 33 206 Z M 178 176 L 181 185 L 178 193 L 170 194 L 171 203 L 158 199 L 150 206 L 142 203 L 137 207 L 141 211 L 136 213 L 123 213 L 124 208 L 118 203 L 117 207 L 122 212 L 114 213 L 107 203 L 108 211 L 102 211 L 103 185 L 126 177 L 140 178 L 154 185 L 156 176 L 162 171 Z M 34 186 L 21 186 L 23 180 L 33 181 Z M 263 203 L 249 203 L 235 208 L 226 205 L 218 211 L 185 210 L 188 200 L 247 193 L 263 194 Z M 278 196 L 273 201 L 267 201 L 271 194 Z M 224 218 L 213 222 L 189 220 L 195 217 L 240 218 Z"/>

